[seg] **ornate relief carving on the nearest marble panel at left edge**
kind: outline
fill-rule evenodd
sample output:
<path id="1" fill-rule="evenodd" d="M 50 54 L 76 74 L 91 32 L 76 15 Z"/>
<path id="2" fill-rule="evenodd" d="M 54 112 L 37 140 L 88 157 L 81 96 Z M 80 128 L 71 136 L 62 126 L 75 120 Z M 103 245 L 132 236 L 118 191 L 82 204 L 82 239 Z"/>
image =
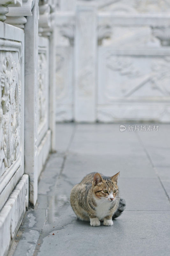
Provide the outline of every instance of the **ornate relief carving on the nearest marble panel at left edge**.
<path id="1" fill-rule="evenodd" d="M 21 78 L 18 53 L 0 52 L 0 170 L 17 159 L 21 140 Z"/>

